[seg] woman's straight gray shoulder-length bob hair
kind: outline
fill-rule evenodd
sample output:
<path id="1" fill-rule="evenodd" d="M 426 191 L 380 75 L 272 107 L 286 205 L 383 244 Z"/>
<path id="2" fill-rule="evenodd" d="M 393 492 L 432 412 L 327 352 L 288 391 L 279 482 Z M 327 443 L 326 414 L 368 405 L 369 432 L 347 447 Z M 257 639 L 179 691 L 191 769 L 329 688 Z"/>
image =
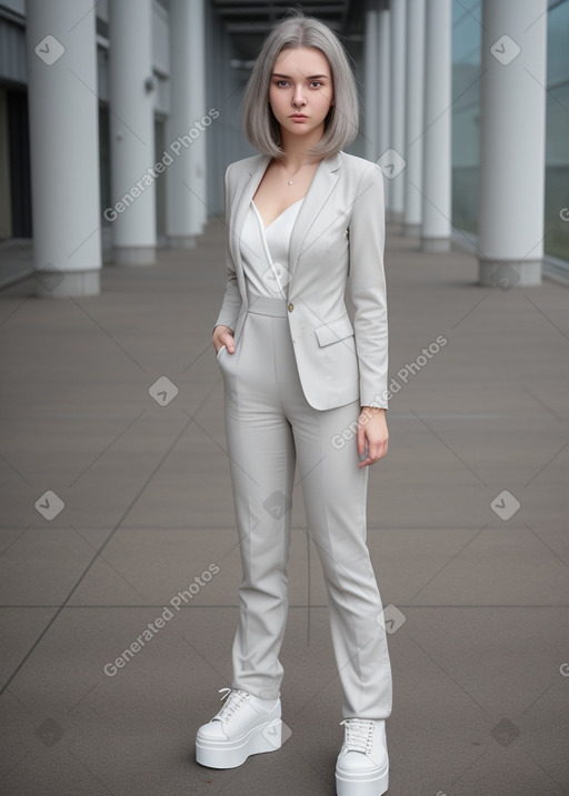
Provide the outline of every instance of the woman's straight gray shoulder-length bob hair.
<path id="1" fill-rule="evenodd" d="M 277 159 L 284 155 L 280 125 L 269 104 L 269 84 L 280 51 L 298 47 L 320 50 L 332 70 L 335 103 L 325 119 L 322 138 L 310 149 L 311 154 L 328 158 L 351 143 L 358 133 L 358 91 L 348 54 L 336 33 L 300 11 L 278 22 L 264 40 L 243 95 L 244 134 L 260 152 Z"/>

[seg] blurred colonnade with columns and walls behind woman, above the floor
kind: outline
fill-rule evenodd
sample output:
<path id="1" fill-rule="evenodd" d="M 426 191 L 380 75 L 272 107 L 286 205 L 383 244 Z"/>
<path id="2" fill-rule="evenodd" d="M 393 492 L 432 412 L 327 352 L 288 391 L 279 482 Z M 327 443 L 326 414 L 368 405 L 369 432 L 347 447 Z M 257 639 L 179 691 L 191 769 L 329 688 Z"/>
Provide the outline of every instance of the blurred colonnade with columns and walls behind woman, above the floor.
<path id="1" fill-rule="evenodd" d="M 348 151 L 382 165 L 402 234 L 470 248 L 486 284 L 566 280 L 569 3 L 299 7 L 350 53 L 361 125 Z M 103 263 L 193 246 L 222 213 L 224 168 L 252 153 L 242 89 L 287 8 L 0 2 L 0 284 L 36 271 L 39 294 L 89 294 Z"/>

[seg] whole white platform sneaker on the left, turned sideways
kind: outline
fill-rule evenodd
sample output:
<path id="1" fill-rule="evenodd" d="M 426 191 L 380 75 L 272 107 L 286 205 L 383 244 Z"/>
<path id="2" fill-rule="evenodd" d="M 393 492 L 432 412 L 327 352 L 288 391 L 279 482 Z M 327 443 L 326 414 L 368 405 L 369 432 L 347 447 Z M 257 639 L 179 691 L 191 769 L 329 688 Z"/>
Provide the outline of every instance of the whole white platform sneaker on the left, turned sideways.
<path id="1" fill-rule="evenodd" d="M 236 688 L 226 692 L 226 704 L 196 736 L 196 759 L 209 768 L 236 768 L 249 755 L 281 747 L 280 699 L 261 699 Z"/>

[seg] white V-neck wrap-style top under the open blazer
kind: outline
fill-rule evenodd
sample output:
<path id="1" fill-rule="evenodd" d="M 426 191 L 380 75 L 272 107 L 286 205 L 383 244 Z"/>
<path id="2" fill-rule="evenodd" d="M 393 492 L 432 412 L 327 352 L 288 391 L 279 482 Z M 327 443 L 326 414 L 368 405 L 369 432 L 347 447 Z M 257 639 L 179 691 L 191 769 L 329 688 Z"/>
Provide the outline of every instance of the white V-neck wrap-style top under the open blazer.
<path id="1" fill-rule="evenodd" d="M 291 204 L 267 229 L 251 199 L 241 233 L 241 256 L 248 298 L 287 298 L 290 235 L 303 198 Z"/>

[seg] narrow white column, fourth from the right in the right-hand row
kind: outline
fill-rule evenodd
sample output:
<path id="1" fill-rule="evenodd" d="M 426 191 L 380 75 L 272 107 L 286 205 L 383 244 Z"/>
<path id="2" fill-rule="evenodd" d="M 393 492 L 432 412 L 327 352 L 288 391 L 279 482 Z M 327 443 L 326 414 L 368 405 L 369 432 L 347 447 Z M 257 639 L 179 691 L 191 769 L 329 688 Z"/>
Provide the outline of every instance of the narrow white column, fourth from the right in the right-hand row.
<path id="1" fill-rule="evenodd" d="M 391 149 L 398 158 L 407 159 L 405 148 L 405 62 L 406 62 L 406 0 L 391 0 Z M 389 220 L 403 220 L 405 169 L 390 180 Z"/>

